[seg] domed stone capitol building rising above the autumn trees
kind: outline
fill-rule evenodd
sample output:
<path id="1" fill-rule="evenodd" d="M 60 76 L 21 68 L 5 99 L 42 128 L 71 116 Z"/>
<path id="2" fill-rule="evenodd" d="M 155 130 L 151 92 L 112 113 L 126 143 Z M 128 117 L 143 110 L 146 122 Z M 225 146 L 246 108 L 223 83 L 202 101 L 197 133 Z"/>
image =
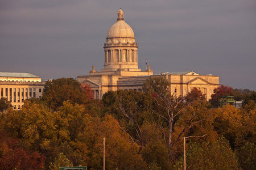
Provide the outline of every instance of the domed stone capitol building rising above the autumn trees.
<path id="1" fill-rule="evenodd" d="M 213 94 L 214 88 L 220 86 L 219 76 L 200 75 L 195 71 L 161 73 L 154 75 L 150 65 L 147 70 L 138 69 L 138 44 L 135 41 L 133 29 L 123 18 L 123 11 L 117 13 L 117 22 L 109 28 L 104 43 L 104 69 L 96 71 L 94 66 L 89 75 L 77 76 L 80 83 L 89 84 L 94 92 L 94 99 L 102 99 L 105 92 L 117 90 L 142 91 L 143 82 L 149 76 L 162 76 L 171 86 L 171 93 L 184 96 L 192 88 L 200 89 L 207 100 Z"/>

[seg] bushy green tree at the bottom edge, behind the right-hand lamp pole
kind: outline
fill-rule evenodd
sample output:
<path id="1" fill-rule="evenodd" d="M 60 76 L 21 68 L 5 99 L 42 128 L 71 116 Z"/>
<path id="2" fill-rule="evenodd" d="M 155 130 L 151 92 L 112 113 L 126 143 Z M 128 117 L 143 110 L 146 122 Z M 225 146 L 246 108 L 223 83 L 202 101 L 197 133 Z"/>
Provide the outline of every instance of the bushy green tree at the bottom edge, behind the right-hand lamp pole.
<path id="1" fill-rule="evenodd" d="M 223 137 L 215 143 L 189 143 L 185 155 L 187 169 L 240 169 L 238 159 Z M 183 156 L 177 160 L 174 169 L 184 169 Z"/>

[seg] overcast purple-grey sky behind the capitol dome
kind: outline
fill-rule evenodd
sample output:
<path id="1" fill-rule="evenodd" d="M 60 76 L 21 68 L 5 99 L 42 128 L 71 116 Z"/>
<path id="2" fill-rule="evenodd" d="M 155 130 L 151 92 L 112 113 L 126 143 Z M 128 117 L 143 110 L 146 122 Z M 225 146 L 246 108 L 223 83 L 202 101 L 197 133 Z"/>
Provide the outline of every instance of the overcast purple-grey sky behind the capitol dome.
<path id="1" fill-rule="evenodd" d="M 104 42 L 122 8 L 154 74 L 195 71 L 256 91 L 255 0 L 0 0 L 0 71 L 42 80 L 104 69 Z"/>

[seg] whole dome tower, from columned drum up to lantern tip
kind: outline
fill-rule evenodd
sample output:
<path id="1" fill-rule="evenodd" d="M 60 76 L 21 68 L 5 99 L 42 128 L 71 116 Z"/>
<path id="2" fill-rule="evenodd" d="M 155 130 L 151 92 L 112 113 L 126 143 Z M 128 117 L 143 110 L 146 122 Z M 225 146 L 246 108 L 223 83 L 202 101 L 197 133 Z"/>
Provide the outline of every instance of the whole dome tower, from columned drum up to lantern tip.
<path id="1" fill-rule="evenodd" d="M 104 44 L 104 69 L 138 69 L 138 45 L 134 32 L 123 19 L 123 11 L 117 13 L 115 22 L 108 31 Z"/>

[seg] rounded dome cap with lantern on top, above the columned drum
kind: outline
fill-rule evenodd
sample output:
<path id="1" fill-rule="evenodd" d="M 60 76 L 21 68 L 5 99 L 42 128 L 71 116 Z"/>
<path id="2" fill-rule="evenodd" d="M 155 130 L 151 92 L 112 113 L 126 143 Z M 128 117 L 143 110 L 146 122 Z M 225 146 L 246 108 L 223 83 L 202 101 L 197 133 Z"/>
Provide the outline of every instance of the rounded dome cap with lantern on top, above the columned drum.
<path id="1" fill-rule="evenodd" d="M 123 11 L 120 9 L 117 13 L 117 22 L 115 22 L 108 31 L 109 38 L 135 38 L 133 29 L 123 20 Z"/>

